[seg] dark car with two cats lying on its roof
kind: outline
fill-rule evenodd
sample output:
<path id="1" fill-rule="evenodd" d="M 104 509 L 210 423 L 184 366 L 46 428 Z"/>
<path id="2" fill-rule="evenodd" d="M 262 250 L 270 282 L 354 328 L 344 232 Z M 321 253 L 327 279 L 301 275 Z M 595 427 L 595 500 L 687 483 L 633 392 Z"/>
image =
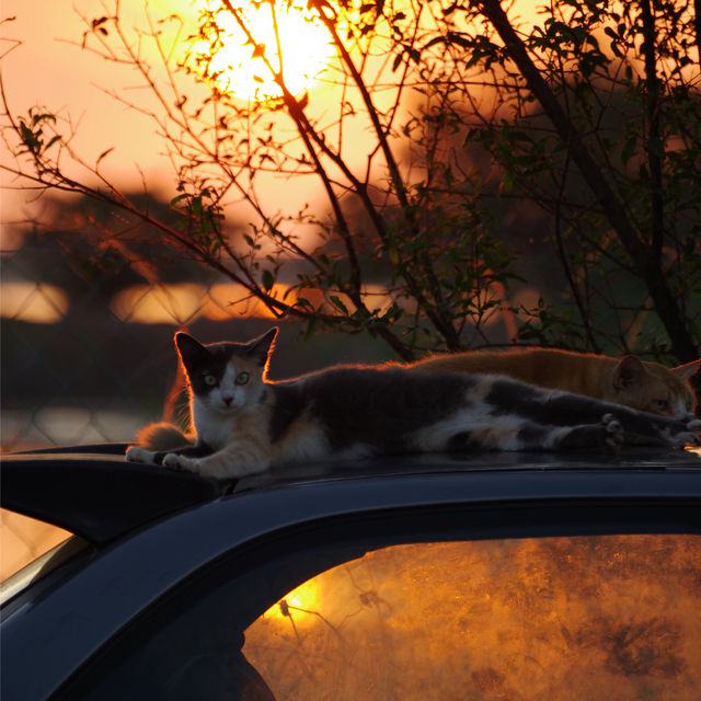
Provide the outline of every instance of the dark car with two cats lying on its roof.
<path id="1" fill-rule="evenodd" d="M 99 449 L 3 461 L 76 533 L 2 606 L 3 699 L 698 698 L 691 451 L 217 483 Z"/>

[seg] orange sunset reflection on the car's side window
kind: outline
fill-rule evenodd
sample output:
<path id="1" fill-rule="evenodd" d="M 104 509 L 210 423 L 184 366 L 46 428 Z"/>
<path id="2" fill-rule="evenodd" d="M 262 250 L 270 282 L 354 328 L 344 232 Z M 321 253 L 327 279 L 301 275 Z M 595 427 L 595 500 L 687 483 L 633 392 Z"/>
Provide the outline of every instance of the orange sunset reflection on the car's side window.
<path id="1" fill-rule="evenodd" d="M 400 544 L 245 631 L 276 699 L 685 699 L 701 689 L 701 539 Z"/>

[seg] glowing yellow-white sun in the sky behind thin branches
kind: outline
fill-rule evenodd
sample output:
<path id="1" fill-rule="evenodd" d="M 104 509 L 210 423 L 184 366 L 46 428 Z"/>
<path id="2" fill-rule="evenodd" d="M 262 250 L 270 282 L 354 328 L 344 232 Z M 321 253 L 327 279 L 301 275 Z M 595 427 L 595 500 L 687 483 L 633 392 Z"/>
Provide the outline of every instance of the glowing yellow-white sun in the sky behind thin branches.
<path id="1" fill-rule="evenodd" d="M 325 27 L 304 0 L 231 3 L 235 14 L 227 5 L 209 0 L 191 50 L 196 70 L 222 93 L 255 102 L 279 99 L 278 73 L 287 90 L 300 95 L 334 55 Z"/>

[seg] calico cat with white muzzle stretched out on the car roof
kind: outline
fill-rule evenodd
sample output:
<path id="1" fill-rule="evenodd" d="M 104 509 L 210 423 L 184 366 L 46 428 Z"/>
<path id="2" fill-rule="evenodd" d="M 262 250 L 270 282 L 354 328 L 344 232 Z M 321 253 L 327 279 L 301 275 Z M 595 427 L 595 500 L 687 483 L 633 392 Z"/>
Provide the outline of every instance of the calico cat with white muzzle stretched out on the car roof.
<path id="1" fill-rule="evenodd" d="M 617 449 L 628 433 L 670 446 L 701 437 L 698 421 L 491 375 L 336 366 L 272 382 L 266 368 L 276 334 L 272 329 L 249 343 L 210 345 L 175 334 L 196 443 L 159 451 L 159 436 L 170 434 L 170 440 L 174 429 L 157 425 L 145 434 L 146 445 L 127 450 L 127 460 L 227 479 L 272 466 L 375 455 Z"/>

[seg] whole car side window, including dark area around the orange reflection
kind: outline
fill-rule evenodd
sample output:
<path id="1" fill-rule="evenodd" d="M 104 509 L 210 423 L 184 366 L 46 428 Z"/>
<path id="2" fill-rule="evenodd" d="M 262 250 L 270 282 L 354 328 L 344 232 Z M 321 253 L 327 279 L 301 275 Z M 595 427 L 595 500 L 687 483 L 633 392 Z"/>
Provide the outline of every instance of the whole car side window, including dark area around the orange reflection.
<path id="1" fill-rule="evenodd" d="M 698 535 L 335 533 L 191 576 L 59 698 L 698 699 Z"/>

